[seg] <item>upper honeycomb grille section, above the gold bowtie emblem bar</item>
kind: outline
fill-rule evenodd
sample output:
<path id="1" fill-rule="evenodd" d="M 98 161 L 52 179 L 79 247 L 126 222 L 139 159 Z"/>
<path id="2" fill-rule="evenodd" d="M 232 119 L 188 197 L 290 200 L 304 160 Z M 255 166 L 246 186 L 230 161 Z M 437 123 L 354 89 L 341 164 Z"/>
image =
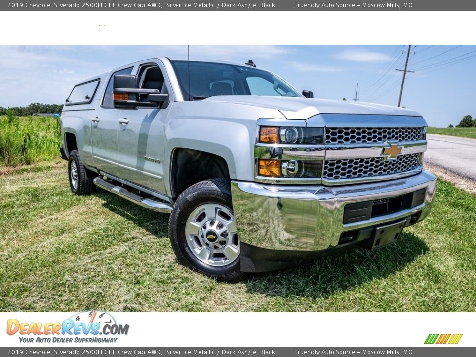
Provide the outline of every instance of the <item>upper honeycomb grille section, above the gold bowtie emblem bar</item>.
<path id="1" fill-rule="evenodd" d="M 424 128 L 326 128 L 326 144 L 371 144 L 423 140 Z"/>

